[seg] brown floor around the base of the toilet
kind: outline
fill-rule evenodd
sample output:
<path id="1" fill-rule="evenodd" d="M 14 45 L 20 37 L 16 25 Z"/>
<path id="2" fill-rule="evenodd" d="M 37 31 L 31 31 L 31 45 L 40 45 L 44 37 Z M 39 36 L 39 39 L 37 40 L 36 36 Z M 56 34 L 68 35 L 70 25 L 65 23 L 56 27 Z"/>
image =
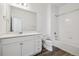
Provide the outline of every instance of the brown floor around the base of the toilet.
<path id="1" fill-rule="evenodd" d="M 36 56 L 73 56 L 73 55 L 55 47 L 54 51 L 52 52 L 47 51 L 46 49 L 43 48 L 42 52 L 37 54 Z"/>

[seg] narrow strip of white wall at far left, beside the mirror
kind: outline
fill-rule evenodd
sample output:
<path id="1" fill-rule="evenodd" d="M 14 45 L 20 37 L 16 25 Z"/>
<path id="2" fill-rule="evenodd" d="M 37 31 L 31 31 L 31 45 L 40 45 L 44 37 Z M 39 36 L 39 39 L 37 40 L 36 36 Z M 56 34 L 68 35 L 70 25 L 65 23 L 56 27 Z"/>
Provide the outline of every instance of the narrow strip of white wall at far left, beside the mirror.
<path id="1" fill-rule="evenodd" d="M 4 4 L 0 3 L 0 35 L 6 33 L 6 13 Z"/>

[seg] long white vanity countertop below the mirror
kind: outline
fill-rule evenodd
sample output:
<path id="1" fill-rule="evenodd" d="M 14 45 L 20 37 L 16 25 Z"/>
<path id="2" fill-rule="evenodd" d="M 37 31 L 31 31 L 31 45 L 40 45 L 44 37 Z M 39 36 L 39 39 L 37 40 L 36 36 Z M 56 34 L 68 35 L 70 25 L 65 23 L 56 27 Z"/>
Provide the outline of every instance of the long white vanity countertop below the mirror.
<path id="1" fill-rule="evenodd" d="M 11 33 L 10 32 L 10 33 L 0 35 L 0 39 L 21 37 L 21 36 L 30 36 L 30 35 L 38 35 L 38 34 L 40 34 L 40 33 L 38 33 L 38 32 L 25 32 L 25 33 L 19 34 L 19 33 Z"/>

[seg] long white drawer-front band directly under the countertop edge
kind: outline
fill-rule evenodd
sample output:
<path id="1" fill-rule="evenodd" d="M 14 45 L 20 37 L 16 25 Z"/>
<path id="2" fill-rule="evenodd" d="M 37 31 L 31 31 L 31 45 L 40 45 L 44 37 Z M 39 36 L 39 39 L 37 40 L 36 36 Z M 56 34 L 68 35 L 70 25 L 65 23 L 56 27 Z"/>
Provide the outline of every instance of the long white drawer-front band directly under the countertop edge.
<path id="1" fill-rule="evenodd" d="M 8 43 L 13 43 L 13 42 L 21 42 L 25 40 L 34 40 L 37 39 L 39 35 L 33 35 L 33 36 L 25 36 L 25 37 L 16 37 L 16 38 L 8 38 L 8 39 L 2 39 L 1 44 L 8 44 Z"/>

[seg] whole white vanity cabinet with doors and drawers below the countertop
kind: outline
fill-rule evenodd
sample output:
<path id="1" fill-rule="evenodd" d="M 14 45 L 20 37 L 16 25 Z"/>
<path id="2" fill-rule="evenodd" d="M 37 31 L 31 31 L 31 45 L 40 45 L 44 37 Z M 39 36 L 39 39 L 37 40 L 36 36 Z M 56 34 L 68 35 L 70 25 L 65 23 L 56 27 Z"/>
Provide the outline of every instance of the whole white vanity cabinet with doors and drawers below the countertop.
<path id="1" fill-rule="evenodd" d="M 42 41 L 40 35 L 23 36 L 2 39 L 2 56 L 29 56 L 41 52 Z"/>

